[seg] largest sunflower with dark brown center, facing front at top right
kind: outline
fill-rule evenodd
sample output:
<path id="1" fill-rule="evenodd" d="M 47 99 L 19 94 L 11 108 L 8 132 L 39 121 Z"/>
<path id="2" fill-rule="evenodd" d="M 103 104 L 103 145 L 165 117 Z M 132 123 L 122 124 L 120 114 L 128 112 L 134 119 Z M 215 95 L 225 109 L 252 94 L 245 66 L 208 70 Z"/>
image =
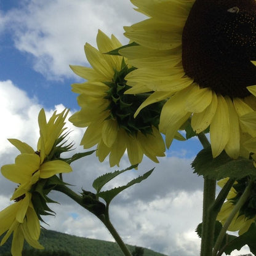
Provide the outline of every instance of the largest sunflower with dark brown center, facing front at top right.
<path id="1" fill-rule="evenodd" d="M 137 46 L 119 53 L 137 69 L 126 94 L 153 91 L 138 108 L 166 99 L 159 130 L 170 146 L 191 117 L 210 129 L 212 154 L 238 158 L 241 134 L 256 136 L 256 2 L 131 0 L 148 18 L 125 27 Z"/>

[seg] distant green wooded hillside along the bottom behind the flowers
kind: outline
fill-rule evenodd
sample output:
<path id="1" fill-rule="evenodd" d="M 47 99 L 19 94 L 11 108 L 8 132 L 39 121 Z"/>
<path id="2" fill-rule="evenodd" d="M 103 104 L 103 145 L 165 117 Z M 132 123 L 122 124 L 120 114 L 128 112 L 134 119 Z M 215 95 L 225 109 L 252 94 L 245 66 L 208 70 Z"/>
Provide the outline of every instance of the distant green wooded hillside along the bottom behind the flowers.
<path id="1" fill-rule="evenodd" d="M 42 230 L 39 241 L 46 248 L 45 250 L 31 249 L 25 244 L 23 256 L 123 256 L 121 250 L 115 242 L 106 242 L 97 239 L 80 238 L 63 234 L 52 230 Z M 0 247 L 0 256 L 10 255 L 11 239 Z M 133 252 L 135 246 L 128 246 Z M 145 249 L 143 256 L 166 256 L 153 250 Z"/>

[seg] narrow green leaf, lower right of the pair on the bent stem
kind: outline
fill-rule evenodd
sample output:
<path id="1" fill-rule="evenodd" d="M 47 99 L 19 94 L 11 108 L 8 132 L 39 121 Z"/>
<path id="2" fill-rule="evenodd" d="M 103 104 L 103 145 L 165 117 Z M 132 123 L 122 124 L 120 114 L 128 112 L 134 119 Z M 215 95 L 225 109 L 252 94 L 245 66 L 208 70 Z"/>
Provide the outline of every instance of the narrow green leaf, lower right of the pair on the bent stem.
<path id="1" fill-rule="evenodd" d="M 134 180 L 127 183 L 125 186 L 119 186 L 118 188 L 113 188 L 112 190 L 102 191 L 98 193 L 98 196 L 100 198 L 103 198 L 106 201 L 106 204 L 110 204 L 111 200 L 118 195 L 121 191 L 126 190 L 126 188 L 129 188 L 129 186 L 132 186 L 136 183 L 142 182 L 142 180 L 145 180 L 150 176 L 150 174 L 153 172 L 154 168 L 143 174 L 142 176 L 139 176 L 137 178 L 134 178 Z"/>

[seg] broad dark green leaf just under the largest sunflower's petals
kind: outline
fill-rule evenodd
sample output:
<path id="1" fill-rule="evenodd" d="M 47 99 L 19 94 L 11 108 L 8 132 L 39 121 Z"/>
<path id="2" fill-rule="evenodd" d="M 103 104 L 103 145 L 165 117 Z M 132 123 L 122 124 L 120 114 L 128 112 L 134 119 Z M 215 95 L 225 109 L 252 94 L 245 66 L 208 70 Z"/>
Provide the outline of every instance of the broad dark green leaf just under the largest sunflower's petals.
<path id="1" fill-rule="evenodd" d="M 201 150 L 191 166 L 194 169 L 194 173 L 208 178 L 216 178 L 217 180 L 226 177 L 240 179 L 248 175 L 256 175 L 256 168 L 252 160 L 242 157 L 232 159 L 225 151 L 217 158 L 212 158 L 210 147 Z"/>

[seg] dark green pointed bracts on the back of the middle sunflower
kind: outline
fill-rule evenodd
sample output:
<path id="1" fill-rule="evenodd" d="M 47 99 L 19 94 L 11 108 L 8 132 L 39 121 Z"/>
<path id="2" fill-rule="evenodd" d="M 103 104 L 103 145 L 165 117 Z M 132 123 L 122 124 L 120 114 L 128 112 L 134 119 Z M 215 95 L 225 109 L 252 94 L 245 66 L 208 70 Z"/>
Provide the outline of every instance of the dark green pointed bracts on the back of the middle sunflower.
<path id="1" fill-rule="evenodd" d="M 126 130 L 130 135 L 137 135 L 138 131 L 144 135 L 152 134 L 152 126 L 158 128 L 163 103 L 154 103 L 144 108 L 134 118 L 134 113 L 150 94 L 124 94 L 126 90 L 130 89 L 124 77 L 132 70 L 135 70 L 135 68 L 129 68 L 123 61 L 121 70 L 114 71 L 113 81 L 105 82 L 106 86 L 110 87 L 105 97 L 110 101 L 110 105 L 108 106 L 110 116 L 108 118 L 116 120 L 119 127 Z"/>

